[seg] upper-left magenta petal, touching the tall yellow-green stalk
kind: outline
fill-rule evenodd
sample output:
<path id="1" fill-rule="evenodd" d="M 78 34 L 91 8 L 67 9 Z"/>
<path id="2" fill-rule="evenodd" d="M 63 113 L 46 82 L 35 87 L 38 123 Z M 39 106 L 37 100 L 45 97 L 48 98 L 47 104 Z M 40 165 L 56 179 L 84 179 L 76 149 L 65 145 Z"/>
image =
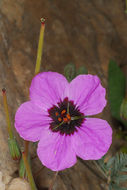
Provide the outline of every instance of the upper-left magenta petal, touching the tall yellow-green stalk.
<path id="1" fill-rule="evenodd" d="M 40 106 L 49 109 L 63 99 L 68 81 L 56 72 L 43 72 L 36 75 L 30 86 L 30 98 Z"/>

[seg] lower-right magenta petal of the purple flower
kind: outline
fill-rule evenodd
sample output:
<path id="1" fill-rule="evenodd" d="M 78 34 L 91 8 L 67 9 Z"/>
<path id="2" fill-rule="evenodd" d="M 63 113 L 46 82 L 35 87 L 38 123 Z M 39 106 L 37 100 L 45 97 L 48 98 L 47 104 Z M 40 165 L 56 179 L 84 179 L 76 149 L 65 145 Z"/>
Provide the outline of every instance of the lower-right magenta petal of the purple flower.
<path id="1" fill-rule="evenodd" d="M 73 136 L 76 155 L 84 160 L 98 160 L 108 151 L 112 143 L 112 129 L 107 121 L 87 118 Z"/>

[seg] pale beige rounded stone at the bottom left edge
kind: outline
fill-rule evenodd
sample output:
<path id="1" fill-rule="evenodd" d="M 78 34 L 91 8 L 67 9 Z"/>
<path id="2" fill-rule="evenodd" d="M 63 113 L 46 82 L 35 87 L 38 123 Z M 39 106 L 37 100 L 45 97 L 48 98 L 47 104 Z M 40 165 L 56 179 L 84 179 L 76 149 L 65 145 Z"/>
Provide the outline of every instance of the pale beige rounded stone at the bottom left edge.
<path id="1" fill-rule="evenodd" d="M 29 183 L 21 178 L 15 178 L 11 181 L 7 190 L 31 190 Z"/>

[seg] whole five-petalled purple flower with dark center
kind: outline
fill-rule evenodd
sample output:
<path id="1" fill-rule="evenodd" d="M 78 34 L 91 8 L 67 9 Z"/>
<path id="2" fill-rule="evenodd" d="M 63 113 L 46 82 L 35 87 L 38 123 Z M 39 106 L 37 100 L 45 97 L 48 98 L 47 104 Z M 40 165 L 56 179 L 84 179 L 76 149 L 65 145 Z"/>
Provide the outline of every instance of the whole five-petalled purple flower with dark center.
<path id="1" fill-rule="evenodd" d="M 106 105 L 105 89 L 93 75 L 79 75 L 70 83 L 56 72 L 36 75 L 30 101 L 16 112 L 15 127 L 28 141 L 39 141 L 37 154 L 53 171 L 69 168 L 76 156 L 98 160 L 109 149 L 112 129 L 100 113 Z"/>

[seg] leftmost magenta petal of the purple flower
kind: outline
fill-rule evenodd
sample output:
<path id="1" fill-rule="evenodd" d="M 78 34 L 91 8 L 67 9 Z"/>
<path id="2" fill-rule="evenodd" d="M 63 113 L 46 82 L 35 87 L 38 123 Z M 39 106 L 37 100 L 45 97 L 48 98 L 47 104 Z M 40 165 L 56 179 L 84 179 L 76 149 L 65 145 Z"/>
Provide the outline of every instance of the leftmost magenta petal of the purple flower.
<path id="1" fill-rule="evenodd" d="M 40 140 L 43 128 L 49 126 L 50 118 L 33 102 L 23 103 L 15 115 L 15 128 L 19 135 L 28 141 Z"/>

